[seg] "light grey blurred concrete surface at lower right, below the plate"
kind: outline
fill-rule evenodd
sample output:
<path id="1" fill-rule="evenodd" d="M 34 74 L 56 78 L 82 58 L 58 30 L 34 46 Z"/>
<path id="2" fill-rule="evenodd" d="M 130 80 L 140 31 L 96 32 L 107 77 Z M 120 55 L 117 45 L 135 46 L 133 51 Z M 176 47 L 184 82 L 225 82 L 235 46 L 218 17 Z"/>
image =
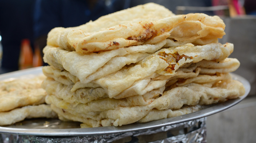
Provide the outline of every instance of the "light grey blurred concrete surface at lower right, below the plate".
<path id="1" fill-rule="evenodd" d="M 256 96 L 207 117 L 207 143 L 256 142 Z"/>

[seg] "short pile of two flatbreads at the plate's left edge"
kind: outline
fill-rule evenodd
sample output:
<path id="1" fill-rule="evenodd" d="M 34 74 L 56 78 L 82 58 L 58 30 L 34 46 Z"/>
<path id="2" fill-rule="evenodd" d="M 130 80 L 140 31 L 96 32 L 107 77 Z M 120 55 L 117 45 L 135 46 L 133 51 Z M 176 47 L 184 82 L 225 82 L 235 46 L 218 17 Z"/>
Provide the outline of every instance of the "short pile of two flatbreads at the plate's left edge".
<path id="1" fill-rule="evenodd" d="M 50 105 L 44 104 L 46 92 L 41 88 L 46 77 L 10 78 L 0 82 L 0 125 L 11 125 L 25 118 L 56 118 Z"/>

